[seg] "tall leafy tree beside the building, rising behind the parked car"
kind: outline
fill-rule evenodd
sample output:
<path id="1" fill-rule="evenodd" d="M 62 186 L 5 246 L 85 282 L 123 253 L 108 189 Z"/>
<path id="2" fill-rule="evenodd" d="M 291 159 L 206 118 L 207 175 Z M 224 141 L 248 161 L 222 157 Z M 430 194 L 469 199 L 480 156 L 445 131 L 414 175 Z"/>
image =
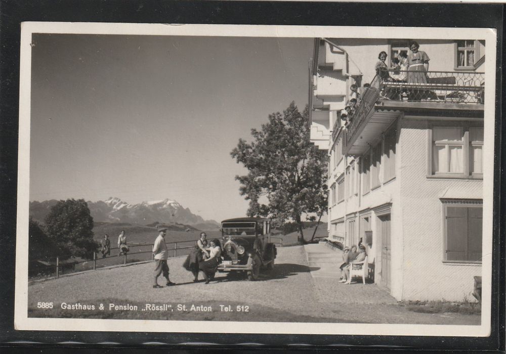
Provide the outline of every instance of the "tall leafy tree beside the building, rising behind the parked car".
<path id="1" fill-rule="evenodd" d="M 248 169 L 247 175 L 236 176 L 240 194 L 249 200 L 247 214 L 294 220 L 300 243 L 302 215 L 317 213 L 321 218 L 327 210 L 327 152 L 315 147 L 309 134 L 308 107 L 301 114 L 291 102 L 283 114 L 270 114 L 261 130 L 251 129 L 251 143 L 239 139 L 231 152 Z"/>

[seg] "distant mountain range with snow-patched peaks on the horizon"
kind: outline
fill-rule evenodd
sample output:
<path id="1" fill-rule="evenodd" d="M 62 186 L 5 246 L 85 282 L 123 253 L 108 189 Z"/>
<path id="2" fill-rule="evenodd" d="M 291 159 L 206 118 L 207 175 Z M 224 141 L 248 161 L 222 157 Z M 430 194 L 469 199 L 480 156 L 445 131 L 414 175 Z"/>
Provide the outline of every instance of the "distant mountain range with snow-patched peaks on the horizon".
<path id="1" fill-rule="evenodd" d="M 40 222 L 44 221 L 51 207 L 58 200 L 30 202 L 30 216 Z M 153 223 L 179 223 L 191 225 L 199 230 L 214 230 L 219 224 L 215 220 L 204 220 L 201 216 L 183 207 L 175 200 L 163 199 L 129 204 L 119 198 L 108 198 L 104 201 L 87 201 L 95 222 L 128 223 L 133 225 L 149 225 Z"/>

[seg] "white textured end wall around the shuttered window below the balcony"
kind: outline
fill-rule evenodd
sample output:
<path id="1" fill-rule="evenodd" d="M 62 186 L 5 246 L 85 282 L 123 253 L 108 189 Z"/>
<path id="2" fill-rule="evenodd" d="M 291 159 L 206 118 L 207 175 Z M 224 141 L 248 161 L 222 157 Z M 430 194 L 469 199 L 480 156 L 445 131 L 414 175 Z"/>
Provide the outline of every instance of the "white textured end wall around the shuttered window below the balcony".
<path id="1" fill-rule="evenodd" d="M 473 299 L 473 276 L 481 276 L 481 264 L 443 263 L 443 214 L 440 197 L 450 189 L 460 197 L 481 195 L 481 180 L 427 178 L 427 121 L 402 122 L 400 135 L 401 207 L 403 248 L 403 300 Z M 402 256 L 401 256 L 402 255 Z"/>

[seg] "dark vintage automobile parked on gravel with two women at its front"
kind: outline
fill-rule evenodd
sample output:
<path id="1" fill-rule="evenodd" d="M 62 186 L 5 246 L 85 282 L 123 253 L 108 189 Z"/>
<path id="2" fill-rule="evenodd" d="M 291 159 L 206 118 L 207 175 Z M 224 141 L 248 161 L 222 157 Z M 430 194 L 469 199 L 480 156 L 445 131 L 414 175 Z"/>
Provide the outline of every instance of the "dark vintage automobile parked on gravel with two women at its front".
<path id="1" fill-rule="evenodd" d="M 276 245 L 271 243 L 268 218 L 240 217 L 222 221 L 222 262 L 219 272 L 245 272 L 257 280 L 261 268 L 271 270 Z"/>

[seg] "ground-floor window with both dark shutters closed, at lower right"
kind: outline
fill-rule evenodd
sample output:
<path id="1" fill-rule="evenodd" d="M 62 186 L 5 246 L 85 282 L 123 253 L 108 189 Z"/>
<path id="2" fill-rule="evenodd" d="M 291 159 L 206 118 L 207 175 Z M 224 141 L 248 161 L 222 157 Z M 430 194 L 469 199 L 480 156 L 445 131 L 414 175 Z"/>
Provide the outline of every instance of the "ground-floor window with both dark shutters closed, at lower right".
<path id="1" fill-rule="evenodd" d="M 445 260 L 481 261 L 483 207 L 476 204 L 444 206 Z"/>

